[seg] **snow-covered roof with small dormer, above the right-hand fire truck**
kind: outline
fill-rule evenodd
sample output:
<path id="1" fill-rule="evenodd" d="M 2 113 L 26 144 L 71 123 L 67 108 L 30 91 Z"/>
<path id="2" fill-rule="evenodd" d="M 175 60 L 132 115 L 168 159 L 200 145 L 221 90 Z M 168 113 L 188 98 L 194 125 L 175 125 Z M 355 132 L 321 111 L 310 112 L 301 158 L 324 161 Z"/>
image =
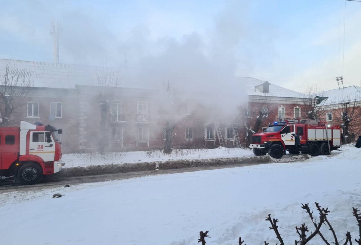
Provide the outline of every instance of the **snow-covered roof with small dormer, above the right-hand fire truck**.
<path id="1" fill-rule="evenodd" d="M 271 83 L 269 84 L 269 93 L 262 93 L 256 86 L 264 84 L 265 81 L 255 79 L 253 77 L 234 77 L 235 82 L 242 86 L 242 89 L 246 89 L 248 95 L 267 95 L 275 97 L 290 97 L 290 98 L 302 98 L 301 93 L 286 89 Z"/>

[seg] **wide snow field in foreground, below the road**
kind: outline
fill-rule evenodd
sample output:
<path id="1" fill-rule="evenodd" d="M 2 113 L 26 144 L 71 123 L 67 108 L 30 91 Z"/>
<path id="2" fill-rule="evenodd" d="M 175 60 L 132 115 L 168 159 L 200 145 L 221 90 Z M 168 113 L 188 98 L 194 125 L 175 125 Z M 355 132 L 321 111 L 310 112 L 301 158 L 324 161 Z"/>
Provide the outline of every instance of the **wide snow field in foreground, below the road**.
<path id="1" fill-rule="evenodd" d="M 345 149 L 345 148 L 344 148 Z M 333 157 L 192 173 L 13 192 L 0 196 L 1 244 L 197 244 L 209 231 L 209 245 L 278 242 L 265 217 L 279 219 L 285 244 L 295 226 L 314 230 L 301 203 L 329 207 L 329 220 L 344 239 L 358 238 L 352 207 L 361 208 L 361 149 Z M 65 196 L 52 199 L 54 193 Z M 330 242 L 327 227 L 321 230 Z M 279 243 L 279 242 L 278 242 Z M 319 237 L 310 244 L 322 244 Z"/>

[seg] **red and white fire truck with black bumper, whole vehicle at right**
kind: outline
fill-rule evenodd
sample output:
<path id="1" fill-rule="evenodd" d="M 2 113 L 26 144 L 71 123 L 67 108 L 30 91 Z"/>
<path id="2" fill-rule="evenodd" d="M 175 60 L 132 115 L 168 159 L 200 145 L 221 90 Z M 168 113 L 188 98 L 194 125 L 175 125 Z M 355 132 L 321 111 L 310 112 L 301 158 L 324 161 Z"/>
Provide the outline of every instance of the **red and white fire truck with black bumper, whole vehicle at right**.
<path id="1" fill-rule="evenodd" d="M 329 155 L 330 151 L 340 148 L 340 139 L 338 125 L 317 120 L 284 120 L 270 123 L 264 132 L 253 134 L 249 148 L 256 156 L 268 153 L 274 158 L 281 158 L 286 151 L 311 156 Z"/>

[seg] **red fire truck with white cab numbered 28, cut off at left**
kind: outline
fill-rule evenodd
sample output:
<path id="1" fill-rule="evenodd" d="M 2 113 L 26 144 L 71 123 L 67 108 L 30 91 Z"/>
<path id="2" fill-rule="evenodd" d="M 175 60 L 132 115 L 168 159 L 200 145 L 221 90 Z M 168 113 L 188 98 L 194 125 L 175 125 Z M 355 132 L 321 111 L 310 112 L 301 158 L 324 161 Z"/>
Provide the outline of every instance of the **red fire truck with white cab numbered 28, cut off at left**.
<path id="1" fill-rule="evenodd" d="M 14 175 L 21 184 L 36 184 L 44 174 L 59 172 L 61 129 L 21 121 L 20 128 L 0 128 L 0 176 Z"/>

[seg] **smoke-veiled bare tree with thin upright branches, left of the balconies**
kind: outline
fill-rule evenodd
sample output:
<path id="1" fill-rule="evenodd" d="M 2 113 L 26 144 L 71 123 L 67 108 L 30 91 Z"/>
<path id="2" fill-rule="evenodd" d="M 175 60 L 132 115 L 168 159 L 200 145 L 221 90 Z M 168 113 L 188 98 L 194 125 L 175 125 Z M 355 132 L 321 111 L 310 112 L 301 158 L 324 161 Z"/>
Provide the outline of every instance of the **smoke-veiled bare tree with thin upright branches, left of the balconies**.
<path id="1" fill-rule="evenodd" d="M 106 127 L 106 119 L 110 106 L 110 100 L 114 96 L 114 88 L 119 86 L 119 68 L 110 68 L 103 66 L 101 71 L 97 71 L 97 95 L 100 106 L 100 138 L 99 153 L 104 154 L 105 147 L 109 144 L 108 129 Z"/>

